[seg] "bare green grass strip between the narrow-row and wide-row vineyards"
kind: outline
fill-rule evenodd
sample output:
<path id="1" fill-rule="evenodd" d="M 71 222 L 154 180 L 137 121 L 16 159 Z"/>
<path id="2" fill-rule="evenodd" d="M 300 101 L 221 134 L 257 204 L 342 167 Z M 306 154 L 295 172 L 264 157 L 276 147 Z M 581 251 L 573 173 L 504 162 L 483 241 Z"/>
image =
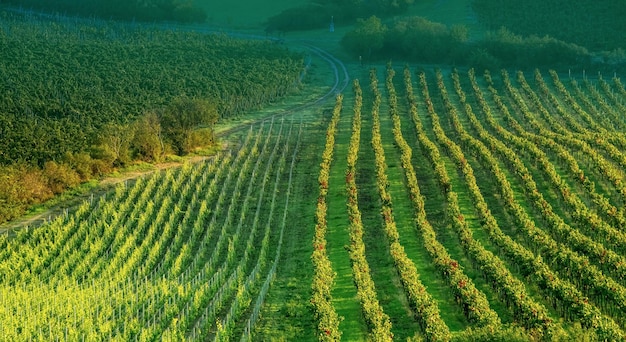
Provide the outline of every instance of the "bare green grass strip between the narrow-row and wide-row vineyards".
<path id="1" fill-rule="evenodd" d="M 258 340 L 315 340 L 315 323 L 309 314 L 313 265 L 311 217 L 315 215 L 318 163 L 324 147 L 324 127 L 309 125 L 302 133 L 298 163 L 294 170 L 285 243 L 277 276 L 266 297 L 254 331 Z"/>

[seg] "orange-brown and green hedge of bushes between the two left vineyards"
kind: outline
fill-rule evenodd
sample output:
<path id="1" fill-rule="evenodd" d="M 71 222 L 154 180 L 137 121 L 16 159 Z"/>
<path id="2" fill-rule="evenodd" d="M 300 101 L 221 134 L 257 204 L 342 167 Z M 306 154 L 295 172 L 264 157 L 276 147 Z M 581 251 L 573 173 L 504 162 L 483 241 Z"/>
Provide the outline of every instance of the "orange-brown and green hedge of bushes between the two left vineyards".
<path id="1" fill-rule="evenodd" d="M 166 155 L 182 155 L 212 145 L 212 126 L 217 118 L 214 103 L 180 97 L 163 109 L 147 111 L 129 124 L 106 124 L 84 151 L 68 151 L 42 165 L 0 165 L 0 222 L 116 167 L 135 161 L 162 162 Z M 48 141 L 50 145 L 46 146 L 54 148 L 55 143 L 60 142 Z"/>

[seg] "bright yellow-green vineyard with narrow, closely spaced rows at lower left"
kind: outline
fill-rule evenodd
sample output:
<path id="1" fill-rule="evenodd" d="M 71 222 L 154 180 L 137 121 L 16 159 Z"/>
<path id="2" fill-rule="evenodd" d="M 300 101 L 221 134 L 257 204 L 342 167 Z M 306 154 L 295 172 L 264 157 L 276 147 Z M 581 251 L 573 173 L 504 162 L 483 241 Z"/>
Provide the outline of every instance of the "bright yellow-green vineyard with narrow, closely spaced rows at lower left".
<path id="1" fill-rule="evenodd" d="M 281 259 L 303 124 L 121 184 L 7 239 L 3 340 L 249 339 Z"/>

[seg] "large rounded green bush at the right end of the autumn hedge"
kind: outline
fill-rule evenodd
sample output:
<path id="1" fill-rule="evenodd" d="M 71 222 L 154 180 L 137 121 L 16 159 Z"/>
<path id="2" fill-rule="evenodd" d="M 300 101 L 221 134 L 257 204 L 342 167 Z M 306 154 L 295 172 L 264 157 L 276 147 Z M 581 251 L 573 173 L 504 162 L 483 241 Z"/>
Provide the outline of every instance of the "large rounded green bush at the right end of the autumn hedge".
<path id="1" fill-rule="evenodd" d="M 215 103 L 204 99 L 179 97 L 163 111 L 161 125 L 176 153 L 184 154 L 197 147 L 195 130 L 207 127 L 212 132 L 218 117 Z"/>

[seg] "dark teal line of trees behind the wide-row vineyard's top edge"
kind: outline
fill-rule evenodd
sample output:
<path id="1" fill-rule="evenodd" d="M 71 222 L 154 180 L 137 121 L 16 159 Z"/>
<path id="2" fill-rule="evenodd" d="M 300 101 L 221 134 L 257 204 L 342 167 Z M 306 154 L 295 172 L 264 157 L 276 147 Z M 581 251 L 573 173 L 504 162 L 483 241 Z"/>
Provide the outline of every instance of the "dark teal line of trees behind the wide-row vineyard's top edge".
<path id="1" fill-rule="evenodd" d="M 417 16 L 390 22 L 376 16 L 358 19 L 341 44 L 365 61 L 395 59 L 479 69 L 584 67 L 593 60 L 586 48 L 553 37 L 524 37 L 502 27 L 480 40 L 470 40 L 464 25 L 446 26 Z"/>

